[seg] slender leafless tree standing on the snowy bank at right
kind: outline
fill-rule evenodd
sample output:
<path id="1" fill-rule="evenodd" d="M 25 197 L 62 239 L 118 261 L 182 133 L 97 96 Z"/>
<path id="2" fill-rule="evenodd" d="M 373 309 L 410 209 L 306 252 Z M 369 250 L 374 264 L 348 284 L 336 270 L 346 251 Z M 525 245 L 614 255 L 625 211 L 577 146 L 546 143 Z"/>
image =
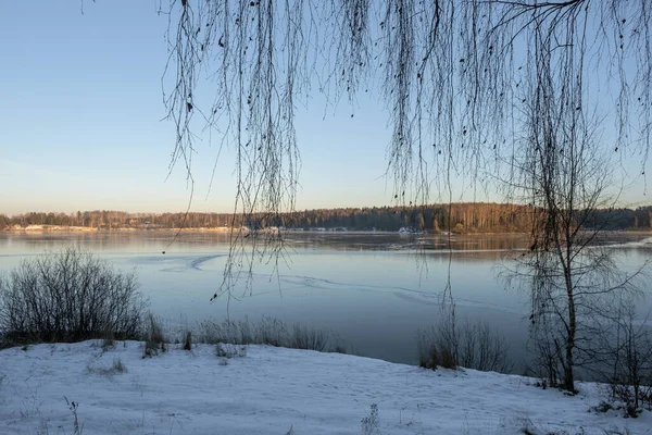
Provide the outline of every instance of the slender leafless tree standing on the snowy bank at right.
<path id="1" fill-rule="evenodd" d="M 534 45 L 549 46 L 541 50 L 549 53 L 555 35 L 539 27 Z M 595 214 L 613 207 L 619 191 L 612 185 L 613 159 L 581 110 L 584 89 L 562 79 L 582 75 L 572 62 L 574 50 L 582 47 L 554 63 L 548 55 L 528 71 L 536 76 L 524 114 L 528 129 L 514 159 L 518 178 L 511 181 L 531 206 L 531 246 L 518 257 L 512 277 L 525 279 L 530 291 L 539 362 L 551 384 L 561 381 L 569 391 L 575 391 L 574 369 L 604 357 L 594 344 L 618 322 L 614 302 L 635 297 L 640 284 L 640 270 L 623 272 L 612 249 L 599 244 L 609 222 Z"/>

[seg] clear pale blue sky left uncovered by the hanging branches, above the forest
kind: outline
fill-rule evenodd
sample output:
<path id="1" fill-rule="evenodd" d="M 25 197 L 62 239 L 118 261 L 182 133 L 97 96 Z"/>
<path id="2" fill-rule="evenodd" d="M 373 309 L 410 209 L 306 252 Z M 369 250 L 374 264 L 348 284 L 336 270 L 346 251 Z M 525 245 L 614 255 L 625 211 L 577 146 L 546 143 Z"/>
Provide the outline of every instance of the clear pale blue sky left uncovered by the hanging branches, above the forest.
<path id="1" fill-rule="evenodd" d="M 5 2 L 0 15 L 0 213 L 183 211 L 184 167 L 168 175 L 173 126 L 162 121 L 167 18 L 155 1 Z M 378 97 L 379 98 L 379 97 Z M 381 101 L 299 110 L 298 209 L 391 204 Z M 235 157 L 199 144 L 192 211 L 233 210 Z M 642 181 L 626 203 L 647 202 Z M 462 192 L 455 194 L 463 198 Z M 466 197 L 465 197 L 466 199 Z M 481 194 L 476 200 L 500 200 Z M 437 198 L 432 198 L 437 200 Z"/>

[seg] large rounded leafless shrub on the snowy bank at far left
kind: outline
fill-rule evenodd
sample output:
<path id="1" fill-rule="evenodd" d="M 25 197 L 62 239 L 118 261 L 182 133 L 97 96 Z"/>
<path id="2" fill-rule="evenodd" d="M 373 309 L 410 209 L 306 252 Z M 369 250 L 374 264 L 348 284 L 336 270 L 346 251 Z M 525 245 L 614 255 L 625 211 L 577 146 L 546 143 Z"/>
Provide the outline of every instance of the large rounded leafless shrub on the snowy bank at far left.
<path id="1" fill-rule="evenodd" d="M 139 335 L 136 275 L 78 248 L 24 260 L 0 279 L 0 330 L 14 344 Z"/>

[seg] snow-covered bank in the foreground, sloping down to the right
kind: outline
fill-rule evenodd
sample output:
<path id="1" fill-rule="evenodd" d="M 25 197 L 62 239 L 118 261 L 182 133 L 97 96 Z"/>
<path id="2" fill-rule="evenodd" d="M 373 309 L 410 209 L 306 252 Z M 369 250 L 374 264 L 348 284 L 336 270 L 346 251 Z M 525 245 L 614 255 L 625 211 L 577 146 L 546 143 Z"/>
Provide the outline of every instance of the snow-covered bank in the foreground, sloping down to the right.
<path id="1" fill-rule="evenodd" d="M 0 351 L 0 434 L 75 434 L 66 399 L 82 434 L 652 434 L 649 411 L 589 412 L 594 384 L 568 397 L 515 375 L 267 346 L 142 359 L 137 341 L 39 345 Z"/>

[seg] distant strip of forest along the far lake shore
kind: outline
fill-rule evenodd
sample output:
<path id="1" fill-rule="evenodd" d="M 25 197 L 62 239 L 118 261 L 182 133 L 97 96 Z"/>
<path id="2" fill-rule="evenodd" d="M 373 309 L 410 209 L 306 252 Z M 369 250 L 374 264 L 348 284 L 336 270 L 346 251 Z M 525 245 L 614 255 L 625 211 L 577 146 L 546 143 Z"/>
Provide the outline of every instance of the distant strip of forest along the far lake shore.
<path id="1" fill-rule="evenodd" d="M 28 225 L 85 226 L 98 229 L 216 228 L 248 226 L 264 228 L 335 229 L 335 231 L 426 231 L 440 233 L 523 233 L 529 228 L 534 209 L 501 203 L 452 203 L 426 207 L 373 207 L 317 209 L 280 216 L 258 216 L 246 222 L 230 213 L 127 213 L 96 210 L 65 213 L 0 214 L 0 229 L 25 228 Z M 588 226 L 603 229 L 652 229 L 652 206 L 632 209 L 605 209 L 597 213 Z"/>

